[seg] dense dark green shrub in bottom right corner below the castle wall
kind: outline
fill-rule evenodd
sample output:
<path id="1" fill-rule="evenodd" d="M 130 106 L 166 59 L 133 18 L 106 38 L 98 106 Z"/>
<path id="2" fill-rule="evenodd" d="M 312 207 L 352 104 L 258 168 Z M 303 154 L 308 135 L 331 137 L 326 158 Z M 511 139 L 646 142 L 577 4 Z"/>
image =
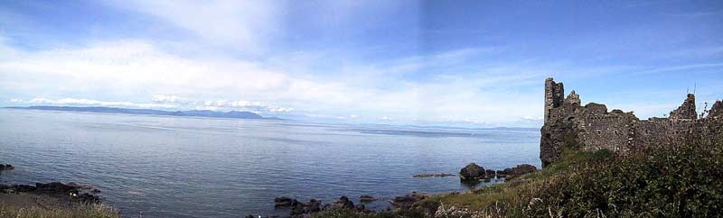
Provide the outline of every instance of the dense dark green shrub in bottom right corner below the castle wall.
<path id="1" fill-rule="evenodd" d="M 569 171 L 541 189 L 531 216 L 723 216 L 723 155 L 689 143 Z"/>

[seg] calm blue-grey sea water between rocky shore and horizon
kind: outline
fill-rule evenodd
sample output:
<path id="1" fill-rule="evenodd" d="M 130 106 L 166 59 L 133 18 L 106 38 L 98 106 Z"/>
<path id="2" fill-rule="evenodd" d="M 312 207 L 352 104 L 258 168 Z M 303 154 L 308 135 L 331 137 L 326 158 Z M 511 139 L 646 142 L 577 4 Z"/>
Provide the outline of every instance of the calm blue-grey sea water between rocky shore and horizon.
<path id="1" fill-rule="evenodd" d="M 5 184 L 98 186 L 124 216 L 287 214 L 286 195 L 331 203 L 465 190 L 467 163 L 540 166 L 537 130 L 460 130 L 0 109 Z M 483 184 L 489 185 L 489 184 Z"/>

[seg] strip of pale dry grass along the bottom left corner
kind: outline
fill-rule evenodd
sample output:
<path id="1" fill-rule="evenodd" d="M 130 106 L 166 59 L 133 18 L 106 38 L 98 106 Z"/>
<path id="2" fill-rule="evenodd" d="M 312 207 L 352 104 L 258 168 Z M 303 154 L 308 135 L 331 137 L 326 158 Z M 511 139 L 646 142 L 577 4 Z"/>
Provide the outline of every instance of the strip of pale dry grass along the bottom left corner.
<path id="1" fill-rule="evenodd" d="M 120 218 L 116 209 L 104 204 L 84 204 L 72 208 L 18 207 L 0 204 L 0 218 Z"/>

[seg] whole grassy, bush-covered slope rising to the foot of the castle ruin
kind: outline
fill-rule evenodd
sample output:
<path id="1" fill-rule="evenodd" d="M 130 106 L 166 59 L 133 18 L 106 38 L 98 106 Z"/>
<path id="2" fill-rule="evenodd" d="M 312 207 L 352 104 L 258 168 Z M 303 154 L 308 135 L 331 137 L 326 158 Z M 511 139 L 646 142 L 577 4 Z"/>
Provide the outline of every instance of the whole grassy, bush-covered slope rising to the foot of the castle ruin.
<path id="1" fill-rule="evenodd" d="M 567 149 L 561 161 L 535 173 L 435 195 L 408 210 L 312 217 L 723 217 L 721 148 L 690 142 L 625 157 Z"/>

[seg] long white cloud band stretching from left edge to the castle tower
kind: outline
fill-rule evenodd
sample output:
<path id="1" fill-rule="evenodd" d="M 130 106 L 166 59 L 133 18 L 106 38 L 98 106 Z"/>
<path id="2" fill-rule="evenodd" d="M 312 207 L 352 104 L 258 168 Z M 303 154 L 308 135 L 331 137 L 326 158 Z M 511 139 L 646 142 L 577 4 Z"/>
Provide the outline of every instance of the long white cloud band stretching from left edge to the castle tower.
<path id="1" fill-rule="evenodd" d="M 332 117 L 349 113 L 363 117 L 385 114 L 399 122 L 463 121 L 475 117 L 487 123 L 509 123 L 524 115 L 541 115 L 541 99 L 536 95 L 541 87 L 529 92 L 514 90 L 518 86 L 541 84 L 540 75 L 552 71 L 521 63 L 476 68 L 476 72 L 455 72 L 456 68 L 449 66 L 449 74 L 437 74 L 428 81 L 399 77 L 425 69 L 404 66 L 446 65 L 445 59 L 449 57 L 463 59 L 478 53 L 469 50 L 383 64 L 345 63 L 338 68 L 347 73 L 338 77 L 329 73 L 324 77 L 304 74 L 313 68 L 296 65 L 183 58 L 147 41 L 105 41 L 83 47 L 8 52 L 14 55 L 0 54 L 7 57 L 0 59 L 0 87 L 23 95 L 94 94 L 101 100 L 148 95 L 153 96 L 149 100 L 154 104 L 179 109 L 294 112 Z M 531 106 L 518 106 L 521 103 Z"/>

